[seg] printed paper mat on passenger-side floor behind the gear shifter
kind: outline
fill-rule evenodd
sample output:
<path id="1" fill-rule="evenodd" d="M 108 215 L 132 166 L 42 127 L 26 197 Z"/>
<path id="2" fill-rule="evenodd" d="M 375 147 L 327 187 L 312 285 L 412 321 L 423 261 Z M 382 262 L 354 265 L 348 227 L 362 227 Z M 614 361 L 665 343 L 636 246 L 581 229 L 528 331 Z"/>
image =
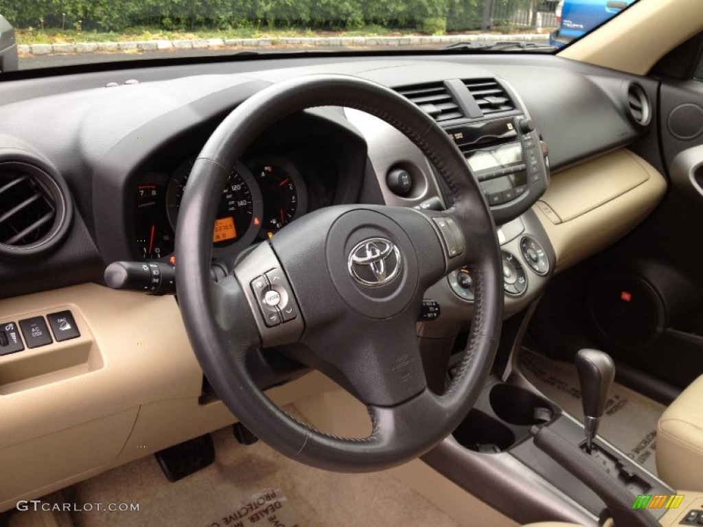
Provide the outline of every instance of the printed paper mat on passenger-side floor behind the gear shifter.
<path id="1" fill-rule="evenodd" d="M 520 353 L 520 371 L 547 398 L 583 422 L 576 366 L 523 349 Z M 598 434 L 652 474 L 657 474 L 654 457 L 657 421 L 665 408 L 636 391 L 614 383 Z"/>

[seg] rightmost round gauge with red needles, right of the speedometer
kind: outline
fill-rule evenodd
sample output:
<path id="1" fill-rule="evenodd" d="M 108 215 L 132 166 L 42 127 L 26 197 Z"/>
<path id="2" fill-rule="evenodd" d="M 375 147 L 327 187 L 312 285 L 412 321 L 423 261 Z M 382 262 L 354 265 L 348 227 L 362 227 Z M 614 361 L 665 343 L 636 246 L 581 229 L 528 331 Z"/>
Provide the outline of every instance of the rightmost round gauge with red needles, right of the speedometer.
<path id="1" fill-rule="evenodd" d="M 248 163 L 261 188 L 264 212 L 260 238 L 270 238 L 307 209 L 307 190 L 295 166 L 276 155 L 257 157 Z"/>

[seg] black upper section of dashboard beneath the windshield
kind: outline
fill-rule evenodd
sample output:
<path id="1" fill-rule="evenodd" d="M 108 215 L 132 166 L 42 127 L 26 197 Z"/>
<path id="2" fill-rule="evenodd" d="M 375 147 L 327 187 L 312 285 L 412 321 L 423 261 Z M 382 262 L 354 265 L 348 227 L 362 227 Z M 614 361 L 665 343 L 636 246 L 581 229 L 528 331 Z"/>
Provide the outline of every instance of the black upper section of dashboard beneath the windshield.
<path id="1" fill-rule="evenodd" d="M 99 281 L 105 263 L 117 259 L 167 256 L 171 247 L 163 236 L 168 238 L 166 231 L 174 228 L 169 207 L 177 208 L 179 185 L 182 190 L 187 179 L 183 164 L 242 100 L 273 82 L 319 73 L 351 74 L 401 92 L 408 86 L 454 86 L 450 91 L 463 110 L 476 97 L 467 92 L 462 102 L 456 82 L 465 86 L 472 80 L 497 81 L 514 103 L 512 109 L 480 117 L 469 113 L 441 124 L 503 118 L 518 126 L 520 119 L 531 119 L 534 139 L 548 145 L 553 170 L 635 141 L 641 129 L 628 117 L 627 86 L 648 82 L 554 56 L 262 58 L 0 82 L 0 98 L 6 101 L 0 106 L 0 161 L 22 152 L 56 172 L 67 183 L 77 212 L 65 242 L 34 261 L 31 275 L 21 262 L 0 259 L 0 277 L 8 284 L 0 296 Z M 122 77 L 140 82 L 105 87 L 126 80 Z M 273 222 L 268 231 L 273 233 L 299 214 L 326 204 L 369 196 L 380 201 L 378 185 L 369 182 L 370 141 L 340 109 L 285 117 L 242 160 L 246 181 L 233 181 L 237 192 L 242 186 L 250 192 L 238 200 L 249 200 L 246 221 L 257 221 L 257 227 Z M 403 152 L 389 150 L 387 155 L 400 155 L 398 162 L 403 162 Z M 266 170 L 276 172 L 280 189 L 288 194 L 275 192 L 272 183 L 264 181 Z M 158 219 L 142 214 L 151 206 L 148 195 L 166 200 Z M 228 233 L 247 230 L 244 219 L 230 224 L 229 217 L 224 216 L 221 228 Z M 159 254 L 153 238 L 165 244 Z"/>

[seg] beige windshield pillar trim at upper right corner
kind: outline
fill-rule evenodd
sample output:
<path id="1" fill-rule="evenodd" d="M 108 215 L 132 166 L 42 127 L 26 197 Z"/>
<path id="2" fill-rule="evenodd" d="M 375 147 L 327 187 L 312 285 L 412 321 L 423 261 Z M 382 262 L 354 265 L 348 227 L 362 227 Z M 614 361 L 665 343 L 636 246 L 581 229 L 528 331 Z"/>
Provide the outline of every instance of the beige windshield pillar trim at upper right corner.
<path id="1" fill-rule="evenodd" d="M 639 0 L 559 56 L 644 75 L 669 50 L 701 30 L 700 0 Z"/>

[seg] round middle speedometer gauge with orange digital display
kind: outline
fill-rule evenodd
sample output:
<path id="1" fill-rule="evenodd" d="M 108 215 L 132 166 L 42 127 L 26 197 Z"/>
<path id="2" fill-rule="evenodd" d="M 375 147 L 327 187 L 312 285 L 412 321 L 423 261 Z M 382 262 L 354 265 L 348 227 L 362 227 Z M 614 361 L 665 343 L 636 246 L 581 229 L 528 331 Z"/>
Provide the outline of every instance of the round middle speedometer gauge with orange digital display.
<path id="1" fill-rule="evenodd" d="M 174 172 L 166 193 L 169 221 L 176 229 L 176 221 L 183 200 L 188 176 L 193 168 L 193 158 L 181 163 Z M 236 163 L 227 178 L 225 188 L 217 205 L 217 214 L 212 228 L 212 243 L 215 249 L 233 245 L 250 244 L 259 231 L 262 217 L 262 197 L 250 171 Z"/>

